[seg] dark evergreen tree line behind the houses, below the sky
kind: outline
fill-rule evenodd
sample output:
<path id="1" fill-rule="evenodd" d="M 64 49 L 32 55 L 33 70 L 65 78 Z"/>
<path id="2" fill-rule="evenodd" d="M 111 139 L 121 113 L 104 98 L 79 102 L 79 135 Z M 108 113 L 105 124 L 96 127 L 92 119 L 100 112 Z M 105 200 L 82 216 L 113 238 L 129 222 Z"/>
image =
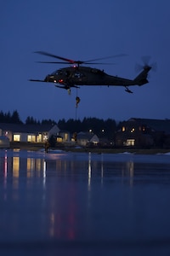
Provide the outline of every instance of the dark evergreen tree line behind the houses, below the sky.
<path id="1" fill-rule="evenodd" d="M 108 138 L 113 137 L 117 125 L 114 119 L 97 119 L 97 118 L 84 118 L 80 119 L 59 119 L 58 123 L 54 119 L 42 119 L 42 121 L 34 119 L 32 116 L 26 118 L 25 123 L 20 119 L 20 114 L 17 110 L 13 113 L 0 112 L 0 123 L 13 123 L 13 124 L 26 124 L 26 125 L 58 125 L 59 130 L 70 132 L 90 131 L 97 134 L 99 137 Z"/>

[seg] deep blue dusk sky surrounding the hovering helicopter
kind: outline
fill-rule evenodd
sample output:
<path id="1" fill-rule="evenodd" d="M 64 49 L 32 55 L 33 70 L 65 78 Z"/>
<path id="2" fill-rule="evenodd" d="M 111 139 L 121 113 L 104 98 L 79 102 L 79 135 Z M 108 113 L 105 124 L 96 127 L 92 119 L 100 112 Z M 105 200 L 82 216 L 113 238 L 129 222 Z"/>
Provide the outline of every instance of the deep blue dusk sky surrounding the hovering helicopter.
<path id="1" fill-rule="evenodd" d="M 169 26 L 168 0 L 2 0 L 0 110 L 17 110 L 23 122 L 27 116 L 76 118 L 77 89 L 69 96 L 54 84 L 28 81 L 65 67 L 37 63 L 55 60 L 35 51 L 82 61 L 127 54 L 109 60 L 116 65 L 93 66 L 127 79 L 138 75 L 136 63 L 150 55 L 157 70 L 150 71 L 149 84 L 130 87 L 133 94 L 124 87 L 82 86 L 77 119 L 170 119 Z"/>

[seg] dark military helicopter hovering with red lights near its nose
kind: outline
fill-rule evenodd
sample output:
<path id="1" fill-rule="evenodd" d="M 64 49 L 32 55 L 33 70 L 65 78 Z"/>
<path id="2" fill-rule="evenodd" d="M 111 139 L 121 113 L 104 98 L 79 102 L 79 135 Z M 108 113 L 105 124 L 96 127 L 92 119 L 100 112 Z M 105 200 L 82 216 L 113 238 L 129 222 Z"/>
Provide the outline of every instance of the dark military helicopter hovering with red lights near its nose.
<path id="1" fill-rule="evenodd" d="M 104 60 L 112 57 L 119 57 L 122 55 L 114 55 L 105 58 L 94 59 L 90 61 L 73 61 L 60 57 L 58 55 L 53 55 L 44 51 L 35 52 L 40 55 L 47 55 L 61 61 L 38 61 L 40 63 L 59 63 L 59 64 L 71 64 L 71 67 L 64 67 L 48 74 L 45 79 L 30 79 L 33 82 L 49 82 L 54 83 L 56 87 L 68 90 L 71 93 L 71 88 L 80 88 L 82 85 L 104 85 L 104 86 L 124 86 L 128 93 L 133 93 L 132 90 L 128 89 L 128 86 L 132 85 L 143 85 L 149 83 L 147 76 L 152 68 L 147 63 L 144 63 L 142 71 L 135 79 L 123 79 L 117 76 L 112 76 L 105 73 L 103 70 L 93 67 L 85 67 L 82 64 L 104 64 L 94 61 Z M 111 64 L 111 63 L 105 63 Z"/>

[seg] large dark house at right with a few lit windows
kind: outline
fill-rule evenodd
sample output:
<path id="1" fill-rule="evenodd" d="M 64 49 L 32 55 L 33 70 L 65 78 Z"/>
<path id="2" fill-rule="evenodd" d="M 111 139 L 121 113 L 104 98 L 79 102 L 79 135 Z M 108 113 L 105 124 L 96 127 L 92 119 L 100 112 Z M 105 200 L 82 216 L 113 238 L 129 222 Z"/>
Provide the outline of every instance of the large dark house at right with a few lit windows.
<path id="1" fill-rule="evenodd" d="M 116 147 L 166 147 L 169 145 L 170 119 L 132 118 L 116 131 Z"/>

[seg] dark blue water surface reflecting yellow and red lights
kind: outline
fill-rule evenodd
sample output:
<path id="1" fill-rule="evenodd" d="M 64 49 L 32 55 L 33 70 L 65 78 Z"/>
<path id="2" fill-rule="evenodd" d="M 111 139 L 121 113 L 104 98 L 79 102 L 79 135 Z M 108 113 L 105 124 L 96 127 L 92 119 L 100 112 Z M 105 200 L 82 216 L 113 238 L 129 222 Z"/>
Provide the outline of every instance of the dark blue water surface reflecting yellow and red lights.
<path id="1" fill-rule="evenodd" d="M 169 184 L 169 155 L 0 150 L 0 252 L 167 253 Z"/>

